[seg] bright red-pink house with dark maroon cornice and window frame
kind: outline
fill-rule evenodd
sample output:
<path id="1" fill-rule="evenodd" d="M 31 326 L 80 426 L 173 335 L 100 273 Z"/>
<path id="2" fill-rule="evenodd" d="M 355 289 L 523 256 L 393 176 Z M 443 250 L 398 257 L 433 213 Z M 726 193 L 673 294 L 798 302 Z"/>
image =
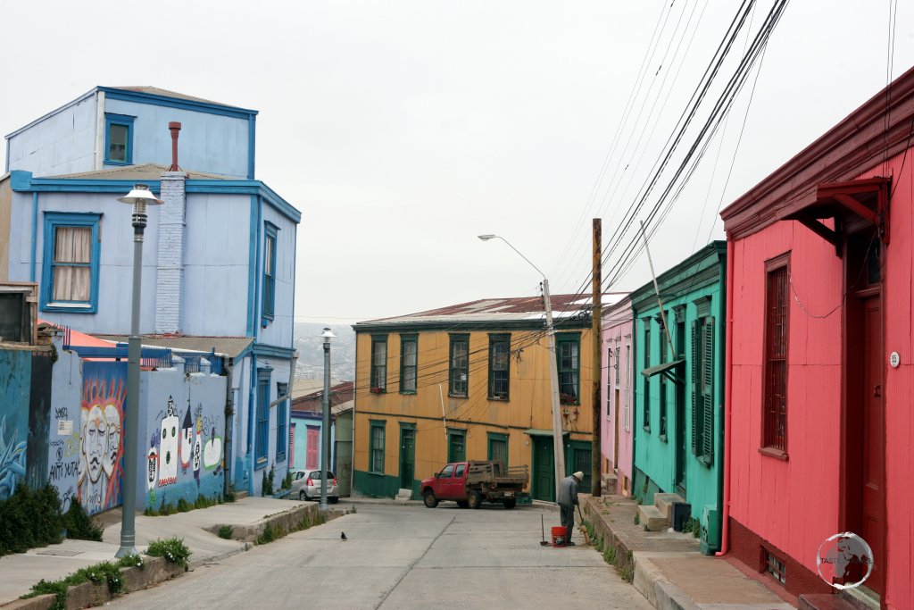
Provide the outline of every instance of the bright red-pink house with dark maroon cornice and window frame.
<path id="1" fill-rule="evenodd" d="M 723 551 L 813 602 L 820 545 L 853 531 L 854 594 L 914 608 L 912 134 L 909 70 L 721 213 Z"/>

